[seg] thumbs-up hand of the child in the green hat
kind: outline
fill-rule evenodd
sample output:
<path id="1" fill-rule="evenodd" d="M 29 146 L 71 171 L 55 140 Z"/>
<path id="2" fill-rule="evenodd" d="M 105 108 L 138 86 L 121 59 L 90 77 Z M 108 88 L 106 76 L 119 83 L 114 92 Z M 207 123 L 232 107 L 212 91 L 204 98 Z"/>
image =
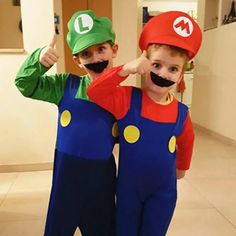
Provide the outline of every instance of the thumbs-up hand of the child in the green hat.
<path id="1" fill-rule="evenodd" d="M 51 43 L 47 47 L 45 47 L 40 53 L 39 62 L 42 65 L 46 67 L 51 67 L 58 61 L 59 55 L 55 49 L 56 42 L 57 35 L 54 34 Z"/>

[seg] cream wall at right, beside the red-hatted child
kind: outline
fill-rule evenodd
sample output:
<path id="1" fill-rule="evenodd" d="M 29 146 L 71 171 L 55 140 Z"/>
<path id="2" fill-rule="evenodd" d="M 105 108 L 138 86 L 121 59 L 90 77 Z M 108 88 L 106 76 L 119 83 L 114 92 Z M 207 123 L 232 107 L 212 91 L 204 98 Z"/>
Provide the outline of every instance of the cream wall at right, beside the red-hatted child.
<path id="1" fill-rule="evenodd" d="M 236 141 L 236 23 L 203 34 L 193 84 L 193 122 Z"/>

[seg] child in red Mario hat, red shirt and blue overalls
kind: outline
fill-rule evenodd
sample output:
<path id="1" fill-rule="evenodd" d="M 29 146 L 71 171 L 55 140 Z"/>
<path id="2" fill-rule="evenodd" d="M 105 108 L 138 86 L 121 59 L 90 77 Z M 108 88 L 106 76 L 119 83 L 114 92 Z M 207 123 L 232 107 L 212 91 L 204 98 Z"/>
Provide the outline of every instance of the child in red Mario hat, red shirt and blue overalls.
<path id="1" fill-rule="evenodd" d="M 201 30 L 186 13 L 170 11 L 144 26 L 134 61 L 105 71 L 87 92 L 118 122 L 120 157 L 116 236 L 164 236 L 176 204 L 176 179 L 189 169 L 194 133 L 188 108 L 170 90 L 201 44 Z M 144 88 L 119 84 L 129 74 Z"/>

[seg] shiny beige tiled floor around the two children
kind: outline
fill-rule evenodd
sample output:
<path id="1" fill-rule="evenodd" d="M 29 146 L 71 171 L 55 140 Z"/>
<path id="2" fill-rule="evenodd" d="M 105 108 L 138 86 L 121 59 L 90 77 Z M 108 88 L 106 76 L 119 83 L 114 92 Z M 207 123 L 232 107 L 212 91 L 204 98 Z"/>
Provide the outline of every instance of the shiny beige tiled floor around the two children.
<path id="1" fill-rule="evenodd" d="M 0 173 L 1 236 L 43 235 L 51 174 Z M 197 131 L 191 171 L 178 189 L 167 236 L 236 235 L 236 147 Z"/>

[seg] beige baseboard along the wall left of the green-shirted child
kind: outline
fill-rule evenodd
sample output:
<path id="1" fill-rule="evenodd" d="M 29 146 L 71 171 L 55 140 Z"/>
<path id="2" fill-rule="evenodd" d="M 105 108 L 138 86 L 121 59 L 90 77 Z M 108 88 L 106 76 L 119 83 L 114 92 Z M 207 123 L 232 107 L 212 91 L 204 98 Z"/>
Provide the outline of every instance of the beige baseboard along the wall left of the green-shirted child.
<path id="1" fill-rule="evenodd" d="M 0 173 L 52 170 L 53 163 L 0 165 Z"/>

